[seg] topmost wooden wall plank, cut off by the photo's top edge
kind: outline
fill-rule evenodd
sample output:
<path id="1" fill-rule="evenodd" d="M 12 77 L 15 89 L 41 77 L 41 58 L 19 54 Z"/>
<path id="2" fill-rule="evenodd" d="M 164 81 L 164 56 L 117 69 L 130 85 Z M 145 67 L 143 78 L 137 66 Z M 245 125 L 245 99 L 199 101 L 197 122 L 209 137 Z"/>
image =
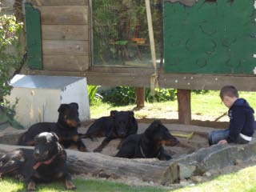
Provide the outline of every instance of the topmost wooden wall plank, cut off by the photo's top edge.
<path id="1" fill-rule="evenodd" d="M 87 6 L 89 0 L 29 0 L 34 6 Z"/>

